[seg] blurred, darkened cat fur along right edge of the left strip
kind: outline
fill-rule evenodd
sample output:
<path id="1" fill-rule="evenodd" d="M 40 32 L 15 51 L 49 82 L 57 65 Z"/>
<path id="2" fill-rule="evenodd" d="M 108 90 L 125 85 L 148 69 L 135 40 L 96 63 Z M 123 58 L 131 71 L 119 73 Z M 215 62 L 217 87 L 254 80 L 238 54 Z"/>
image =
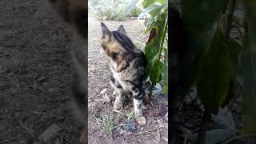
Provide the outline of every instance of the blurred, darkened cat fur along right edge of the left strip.
<path id="1" fill-rule="evenodd" d="M 71 91 L 74 116 L 86 126 L 81 142 L 87 143 L 87 1 L 49 0 L 50 5 L 66 26 L 74 32 L 71 48 Z"/>

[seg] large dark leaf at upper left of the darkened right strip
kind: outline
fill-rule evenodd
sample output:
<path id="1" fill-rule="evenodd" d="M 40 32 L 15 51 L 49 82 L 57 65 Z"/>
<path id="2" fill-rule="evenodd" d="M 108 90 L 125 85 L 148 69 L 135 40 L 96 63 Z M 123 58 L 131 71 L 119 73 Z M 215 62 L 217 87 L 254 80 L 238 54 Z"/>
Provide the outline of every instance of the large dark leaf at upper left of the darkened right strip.
<path id="1" fill-rule="evenodd" d="M 202 67 L 203 58 L 210 49 L 224 6 L 223 1 L 181 1 L 182 20 L 186 32 L 186 49 L 180 61 L 180 83 L 183 97 L 194 85 Z"/>

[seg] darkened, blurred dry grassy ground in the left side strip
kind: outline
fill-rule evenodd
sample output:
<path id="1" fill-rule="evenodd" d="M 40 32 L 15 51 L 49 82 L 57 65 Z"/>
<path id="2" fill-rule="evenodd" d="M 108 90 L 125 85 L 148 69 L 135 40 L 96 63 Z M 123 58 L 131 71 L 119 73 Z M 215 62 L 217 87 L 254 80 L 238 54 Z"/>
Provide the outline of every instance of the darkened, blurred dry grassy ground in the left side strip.
<path id="1" fill-rule="evenodd" d="M 52 124 L 50 141 L 78 143 L 70 113 L 70 33 L 43 1 L 1 1 L 0 142 L 33 143 Z M 3 23 L 3 24 L 2 24 Z M 58 140 L 57 140 L 58 139 Z"/>

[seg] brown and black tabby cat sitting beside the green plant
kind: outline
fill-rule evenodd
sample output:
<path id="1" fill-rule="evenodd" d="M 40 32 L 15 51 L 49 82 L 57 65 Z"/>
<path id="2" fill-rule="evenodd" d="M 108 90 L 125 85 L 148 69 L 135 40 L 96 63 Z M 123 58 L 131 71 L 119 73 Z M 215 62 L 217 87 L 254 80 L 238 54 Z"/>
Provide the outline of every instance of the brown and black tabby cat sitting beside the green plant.
<path id="1" fill-rule="evenodd" d="M 110 31 L 104 23 L 102 26 L 102 47 L 110 58 L 110 84 L 116 98 L 114 110 L 122 108 L 122 99 L 131 94 L 134 101 L 134 116 L 139 125 L 146 124 L 142 114 L 143 78 L 146 72 L 146 57 L 137 49 L 126 35 L 121 25 L 117 31 Z"/>

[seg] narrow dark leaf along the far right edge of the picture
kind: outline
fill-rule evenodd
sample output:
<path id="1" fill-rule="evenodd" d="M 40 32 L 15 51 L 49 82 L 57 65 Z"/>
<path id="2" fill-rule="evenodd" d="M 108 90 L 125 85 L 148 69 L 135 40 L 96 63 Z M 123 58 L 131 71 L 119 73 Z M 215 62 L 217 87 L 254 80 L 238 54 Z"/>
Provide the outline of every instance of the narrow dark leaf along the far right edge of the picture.
<path id="1" fill-rule="evenodd" d="M 242 52 L 244 90 L 242 98 L 242 131 L 256 134 L 256 0 L 245 0 L 246 23 Z M 248 31 L 249 30 L 249 31 Z"/>

